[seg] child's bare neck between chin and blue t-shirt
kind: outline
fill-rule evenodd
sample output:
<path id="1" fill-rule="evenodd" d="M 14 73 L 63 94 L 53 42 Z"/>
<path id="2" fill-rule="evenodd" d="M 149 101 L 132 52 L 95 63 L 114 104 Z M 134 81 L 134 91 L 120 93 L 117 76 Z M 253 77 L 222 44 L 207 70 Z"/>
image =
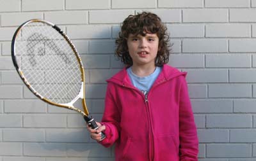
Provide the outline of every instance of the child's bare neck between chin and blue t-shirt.
<path id="1" fill-rule="evenodd" d="M 156 66 L 132 66 L 132 73 L 137 76 L 148 76 L 156 70 Z"/>

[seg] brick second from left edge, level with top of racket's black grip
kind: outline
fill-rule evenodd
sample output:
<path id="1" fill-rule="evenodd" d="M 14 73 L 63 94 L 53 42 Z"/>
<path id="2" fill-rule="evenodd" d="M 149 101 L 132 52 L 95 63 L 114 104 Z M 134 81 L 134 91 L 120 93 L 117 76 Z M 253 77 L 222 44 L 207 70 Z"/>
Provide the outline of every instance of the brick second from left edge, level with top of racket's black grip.
<path id="1" fill-rule="evenodd" d="M 24 127 L 67 127 L 66 115 L 24 115 Z"/>

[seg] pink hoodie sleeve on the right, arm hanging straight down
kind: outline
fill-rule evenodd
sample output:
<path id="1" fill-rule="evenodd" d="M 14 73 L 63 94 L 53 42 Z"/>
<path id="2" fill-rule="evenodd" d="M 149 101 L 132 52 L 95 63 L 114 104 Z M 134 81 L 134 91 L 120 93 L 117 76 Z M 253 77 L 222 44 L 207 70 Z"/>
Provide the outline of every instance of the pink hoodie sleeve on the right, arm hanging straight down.
<path id="1" fill-rule="evenodd" d="M 188 94 L 188 85 L 185 77 L 180 80 L 180 107 L 179 107 L 179 134 L 180 161 L 197 161 L 198 137 L 196 125 Z"/>

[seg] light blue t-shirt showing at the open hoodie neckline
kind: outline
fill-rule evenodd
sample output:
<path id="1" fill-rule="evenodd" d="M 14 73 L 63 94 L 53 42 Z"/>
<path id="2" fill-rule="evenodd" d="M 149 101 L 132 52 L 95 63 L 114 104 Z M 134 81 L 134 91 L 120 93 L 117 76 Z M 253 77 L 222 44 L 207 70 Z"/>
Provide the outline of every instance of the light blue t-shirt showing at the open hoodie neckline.
<path id="1" fill-rule="evenodd" d="M 127 73 L 129 75 L 129 78 L 132 81 L 132 85 L 138 88 L 144 95 L 148 94 L 148 91 L 156 81 L 156 78 L 161 73 L 161 71 L 162 71 L 162 67 L 156 67 L 156 70 L 154 71 L 154 73 L 148 76 L 141 77 L 132 73 L 131 67 L 127 68 Z"/>

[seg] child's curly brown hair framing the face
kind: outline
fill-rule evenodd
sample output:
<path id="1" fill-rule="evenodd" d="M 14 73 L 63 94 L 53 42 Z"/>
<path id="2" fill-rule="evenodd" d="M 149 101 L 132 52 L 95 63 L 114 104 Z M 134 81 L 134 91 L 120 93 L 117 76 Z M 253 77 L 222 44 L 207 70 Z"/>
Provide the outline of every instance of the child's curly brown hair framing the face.
<path id="1" fill-rule="evenodd" d="M 145 36 L 147 33 L 157 34 L 159 38 L 156 66 L 163 66 L 163 64 L 168 63 L 171 45 L 168 44 L 170 37 L 167 33 L 167 28 L 156 14 L 145 11 L 125 18 L 119 36 L 115 41 L 116 57 L 120 58 L 125 65 L 132 66 L 132 58 L 129 55 L 127 46 L 129 34 Z"/>

